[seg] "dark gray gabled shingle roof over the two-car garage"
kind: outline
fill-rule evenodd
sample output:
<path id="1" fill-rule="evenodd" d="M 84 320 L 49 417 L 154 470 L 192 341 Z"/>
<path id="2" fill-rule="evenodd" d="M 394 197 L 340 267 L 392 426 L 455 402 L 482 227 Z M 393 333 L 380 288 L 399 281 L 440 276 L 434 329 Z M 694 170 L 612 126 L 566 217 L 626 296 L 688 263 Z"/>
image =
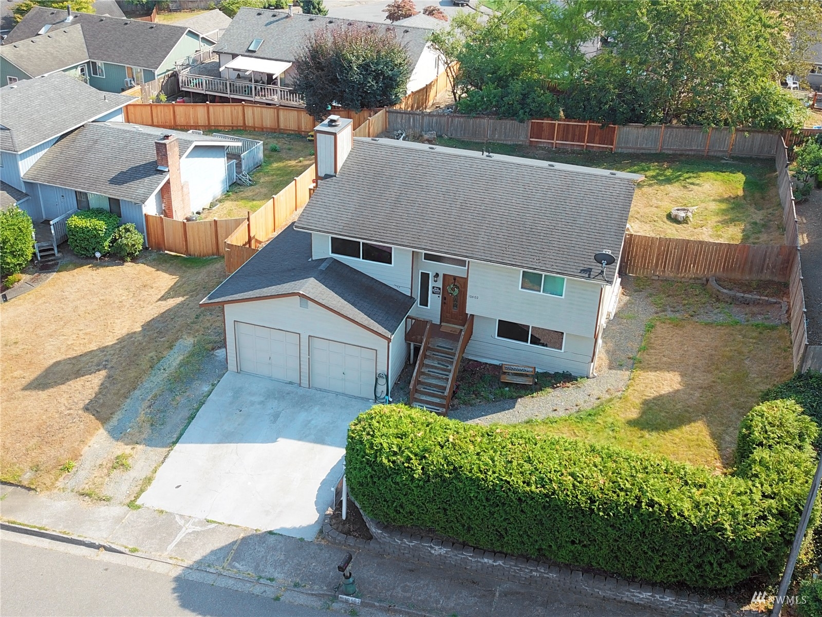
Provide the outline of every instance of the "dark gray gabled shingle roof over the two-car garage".
<path id="1" fill-rule="evenodd" d="M 397 331 L 413 306 L 411 296 L 331 257 L 311 257 L 311 234 L 289 225 L 201 304 L 302 295 L 382 336 Z"/>

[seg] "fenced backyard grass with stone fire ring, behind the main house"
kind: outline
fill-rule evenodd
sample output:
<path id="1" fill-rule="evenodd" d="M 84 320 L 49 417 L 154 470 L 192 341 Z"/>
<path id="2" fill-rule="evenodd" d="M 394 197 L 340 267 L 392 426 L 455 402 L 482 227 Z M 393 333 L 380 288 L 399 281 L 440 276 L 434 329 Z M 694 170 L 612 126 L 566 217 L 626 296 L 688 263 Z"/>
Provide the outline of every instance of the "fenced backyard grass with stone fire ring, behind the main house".
<path id="1" fill-rule="evenodd" d="M 484 146 L 441 137 L 437 142 L 469 150 L 481 150 Z M 628 219 L 635 234 L 733 244 L 784 242 L 773 160 L 491 146 L 499 154 L 644 174 Z M 668 216 L 674 206 L 699 209 L 690 223 L 678 223 Z"/>

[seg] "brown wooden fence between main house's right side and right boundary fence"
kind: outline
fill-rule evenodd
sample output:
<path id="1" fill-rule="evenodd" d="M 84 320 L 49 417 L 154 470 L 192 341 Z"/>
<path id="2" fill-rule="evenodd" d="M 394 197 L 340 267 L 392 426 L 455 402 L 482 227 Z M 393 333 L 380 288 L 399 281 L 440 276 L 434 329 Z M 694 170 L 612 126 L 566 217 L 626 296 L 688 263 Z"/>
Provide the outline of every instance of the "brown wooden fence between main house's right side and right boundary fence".
<path id="1" fill-rule="evenodd" d="M 796 250 L 783 244 L 727 244 L 625 234 L 620 271 L 663 278 L 788 281 Z"/>

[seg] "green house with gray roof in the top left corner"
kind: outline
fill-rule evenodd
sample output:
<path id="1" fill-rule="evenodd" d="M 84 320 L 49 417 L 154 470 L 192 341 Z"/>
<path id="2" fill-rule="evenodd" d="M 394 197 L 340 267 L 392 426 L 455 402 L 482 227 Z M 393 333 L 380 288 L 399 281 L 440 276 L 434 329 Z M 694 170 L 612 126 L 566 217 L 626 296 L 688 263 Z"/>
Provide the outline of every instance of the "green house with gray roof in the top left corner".
<path id="1" fill-rule="evenodd" d="M 34 7 L 0 46 L 0 82 L 65 72 L 122 92 L 173 72 L 214 40 L 183 26 Z"/>

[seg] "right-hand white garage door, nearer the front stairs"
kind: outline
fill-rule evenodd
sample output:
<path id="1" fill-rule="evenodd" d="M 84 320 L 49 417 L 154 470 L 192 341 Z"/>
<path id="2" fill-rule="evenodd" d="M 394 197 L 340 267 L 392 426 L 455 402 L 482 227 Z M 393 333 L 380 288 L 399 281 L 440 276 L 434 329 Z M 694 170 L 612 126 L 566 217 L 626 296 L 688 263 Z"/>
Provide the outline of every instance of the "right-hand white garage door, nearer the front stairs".
<path id="1" fill-rule="evenodd" d="M 311 387 L 373 398 L 376 350 L 309 337 Z"/>

